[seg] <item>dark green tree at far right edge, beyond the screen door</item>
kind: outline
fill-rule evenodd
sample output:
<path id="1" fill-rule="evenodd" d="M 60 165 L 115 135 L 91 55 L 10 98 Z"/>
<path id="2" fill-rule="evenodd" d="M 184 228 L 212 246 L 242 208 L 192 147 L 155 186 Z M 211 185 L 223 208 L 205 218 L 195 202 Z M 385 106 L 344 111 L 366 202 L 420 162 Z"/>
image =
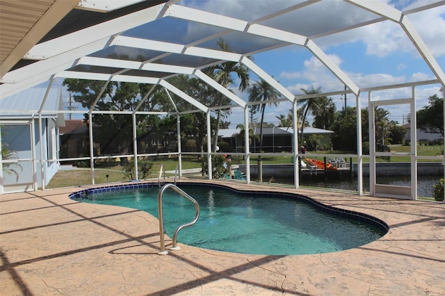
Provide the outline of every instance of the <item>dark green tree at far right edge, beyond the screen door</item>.
<path id="1" fill-rule="evenodd" d="M 429 106 L 417 111 L 417 126 L 426 133 L 440 133 L 444 137 L 444 89 L 442 98 L 437 94 L 428 98 Z"/>

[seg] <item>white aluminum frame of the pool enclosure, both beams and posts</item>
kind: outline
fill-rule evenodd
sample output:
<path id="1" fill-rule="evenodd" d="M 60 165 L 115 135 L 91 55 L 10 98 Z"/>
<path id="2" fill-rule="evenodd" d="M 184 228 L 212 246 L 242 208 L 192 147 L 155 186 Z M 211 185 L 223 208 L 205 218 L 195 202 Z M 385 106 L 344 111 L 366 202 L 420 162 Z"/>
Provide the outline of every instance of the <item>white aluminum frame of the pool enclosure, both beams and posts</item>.
<path id="1" fill-rule="evenodd" d="M 93 6 L 95 6 L 94 9 L 98 8 L 99 10 L 113 10 L 120 6 L 129 5 L 130 3 L 136 3 L 140 0 L 125 0 L 122 1 L 98 1 L 98 0 L 91 0 L 91 1 L 80 1 L 79 7 L 82 7 L 84 9 L 93 9 Z M 152 6 L 150 8 L 145 8 L 143 10 L 137 11 L 135 13 L 130 13 L 128 15 L 124 15 L 122 17 L 117 17 L 115 19 L 111 19 L 107 22 L 103 22 L 101 24 L 97 24 L 95 26 L 90 26 L 88 28 L 83 28 L 79 31 L 63 35 L 58 38 L 54 38 L 53 40 L 49 40 L 46 42 L 42 42 L 40 44 L 35 44 L 26 54 L 24 54 L 24 58 L 28 59 L 34 59 L 38 60 L 37 62 L 24 66 L 19 69 L 15 69 L 13 71 L 10 71 L 6 74 L 3 74 L 0 77 L 0 83 L 3 83 L 0 85 L 0 99 L 3 97 L 8 97 L 11 94 L 15 94 L 21 90 L 24 90 L 26 88 L 30 88 L 33 85 L 37 85 L 39 83 L 42 83 L 44 81 L 50 80 L 52 81 L 54 78 L 74 78 L 74 79 L 94 79 L 99 81 L 106 81 L 104 88 L 110 81 L 122 81 L 122 82 L 137 82 L 137 83 L 147 83 L 152 85 L 161 85 L 163 88 L 165 88 L 166 92 L 168 91 L 173 92 L 177 94 L 181 99 L 184 99 L 185 101 L 188 101 L 188 103 L 192 104 L 197 108 L 197 110 L 189 110 L 183 113 L 179 113 L 176 109 L 176 113 L 178 116 L 178 131 L 179 131 L 179 122 L 180 122 L 180 115 L 184 113 L 190 113 L 190 112 L 204 112 L 207 115 L 207 136 L 210 138 L 211 130 L 210 130 L 210 124 L 209 124 L 209 118 L 210 118 L 210 112 L 211 110 L 215 110 L 215 108 L 209 108 L 208 106 L 204 106 L 196 99 L 188 96 L 178 88 L 176 88 L 174 85 L 171 85 L 168 83 L 165 79 L 172 75 L 176 74 L 186 74 L 186 75 L 194 75 L 197 78 L 201 79 L 211 87 L 218 90 L 218 92 L 225 95 L 225 97 L 229 98 L 232 102 L 234 102 L 235 106 L 239 106 L 241 108 L 244 108 L 244 122 L 245 126 L 248 126 L 248 104 L 243 101 L 240 97 L 236 96 L 232 92 L 229 92 L 227 89 L 223 88 L 221 85 L 216 83 L 216 81 L 213 81 L 209 76 L 204 74 L 201 69 L 204 67 L 207 67 L 209 65 L 202 65 L 201 67 L 193 68 L 193 67 L 184 67 L 181 65 L 165 65 L 161 63 L 155 63 L 156 61 L 159 61 L 161 58 L 165 56 L 169 56 L 171 54 L 182 54 L 182 55 L 188 55 L 188 56 L 200 56 L 205 58 L 211 58 L 214 60 L 219 60 L 220 62 L 223 61 L 233 61 L 233 62 L 239 62 L 248 67 L 252 72 L 257 74 L 261 79 L 269 83 L 273 88 L 275 88 L 282 96 L 289 100 L 292 103 L 293 106 L 293 129 L 294 131 L 297 131 L 296 126 L 296 120 L 297 117 L 297 110 L 296 110 L 296 102 L 298 99 L 304 99 L 308 97 L 316 97 L 323 94 L 316 94 L 316 95 L 301 95 L 296 97 L 294 94 L 291 94 L 286 88 L 284 88 L 283 85 L 275 81 L 272 76 L 270 76 L 264 69 L 261 69 L 258 65 L 256 65 L 252 60 L 248 58 L 250 54 L 236 54 L 232 52 L 226 52 L 226 51 L 220 51 L 216 49 L 205 49 L 203 47 L 199 47 L 198 45 L 206 42 L 208 40 L 212 40 L 213 38 L 217 38 L 218 36 L 225 35 L 227 33 L 231 33 L 233 31 L 237 32 L 243 32 L 248 33 L 251 35 L 257 35 L 262 38 L 273 38 L 274 40 L 278 40 L 280 43 L 274 45 L 273 47 L 269 47 L 266 49 L 259 49 L 257 51 L 254 51 L 254 53 L 261 53 L 263 51 L 267 51 L 270 49 L 278 48 L 278 47 L 284 47 L 289 44 L 296 44 L 300 47 L 305 47 L 308 49 L 318 60 L 327 67 L 327 69 L 334 74 L 334 76 L 341 81 L 344 85 L 346 85 L 347 89 L 344 92 L 334 92 L 332 94 L 339 94 L 339 93 L 353 93 L 356 97 L 356 106 L 357 106 L 357 156 L 359 158 L 358 165 L 357 165 L 357 177 L 358 177 L 358 183 L 359 183 L 359 195 L 362 195 L 362 161 L 363 161 L 363 155 L 362 155 L 362 131 L 361 131 L 361 102 L 359 100 L 359 94 L 363 92 L 368 92 L 369 95 L 369 106 L 373 106 L 373 104 L 376 104 L 374 101 L 371 100 L 371 92 L 374 90 L 383 90 L 383 89 L 389 89 L 389 88 L 396 88 L 398 85 L 382 85 L 379 88 L 363 88 L 360 89 L 350 77 L 343 72 L 343 70 L 338 67 L 332 59 L 325 54 L 325 52 L 321 49 L 321 47 L 316 44 L 315 40 L 317 38 L 320 38 L 322 36 L 326 35 L 332 35 L 334 33 L 339 33 L 343 31 L 348 31 L 353 28 L 357 28 L 359 26 L 366 26 L 368 24 L 375 24 L 377 22 L 384 22 L 386 20 L 390 20 L 391 22 L 395 22 L 406 33 L 407 37 L 410 39 L 412 44 L 414 44 L 414 47 L 419 51 L 419 54 L 423 57 L 428 67 L 430 67 L 433 74 L 435 74 L 436 79 L 435 81 L 423 81 L 421 83 L 413 83 L 412 85 L 408 85 L 412 87 L 413 92 L 413 99 L 410 102 L 411 106 L 411 113 L 412 116 L 414 116 L 415 119 L 415 98 L 414 98 L 414 88 L 415 85 L 425 85 L 430 83 L 440 83 L 442 87 L 445 85 L 445 74 L 443 69 L 440 67 L 439 63 L 437 63 L 437 60 L 435 60 L 434 56 L 430 53 L 428 47 L 421 39 L 419 33 L 416 32 L 416 29 L 414 26 L 412 26 L 410 19 L 408 19 L 407 15 L 411 13 L 415 13 L 417 11 L 426 10 L 429 8 L 437 7 L 439 5 L 444 5 L 445 1 L 437 1 L 435 3 L 430 3 L 426 6 L 421 6 L 420 8 L 416 8 L 414 10 L 409 10 L 402 12 L 401 10 L 397 10 L 396 8 L 393 8 L 389 6 L 387 3 L 380 2 L 380 1 L 369 1 L 369 0 L 343 0 L 346 3 L 350 3 L 353 6 L 356 6 L 357 8 L 367 10 L 375 15 L 378 15 L 376 19 L 373 19 L 368 22 L 362 22 L 359 24 L 353 24 L 351 26 L 348 26 L 343 29 L 337 29 L 325 33 L 320 33 L 318 35 L 314 36 L 304 36 L 304 35 L 298 35 L 296 33 L 291 33 L 288 31 L 283 31 L 277 28 L 273 28 L 270 26 L 265 26 L 261 24 L 261 22 L 264 22 L 266 19 L 273 19 L 274 17 L 280 17 L 286 13 L 289 13 L 293 10 L 298 10 L 307 6 L 310 6 L 314 3 L 318 3 L 321 0 L 308 0 L 304 1 L 302 3 L 298 3 L 294 6 L 289 6 L 288 8 L 269 13 L 268 15 L 264 15 L 263 17 L 260 17 L 258 19 L 254 19 L 250 22 L 247 22 L 242 19 L 236 19 L 234 17 L 227 17 L 224 15 L 218 15 L 216 13 L 209 13 L 203 10 L 198 10 L 195 8 L 188 8 L 185 6 L 177 5 L 176 3 L 179 2 L 179 0 L 171 0 L 163 4 L 159 4 L 156 6 Z M 72 1 L 73 2 L 73 1 Z M 99 3 L 100 2 L 100 3 Z M 106 3 L 105 3 L 106 2 Z M 58 2 L 60 3 L 60 1 Z M 220 33 L 216 33 L 213 35 L 209 35 L 205 38 L 202 38 L 201 40 L 197 40 L 195 42 L 192 42 L 191 44 L 175 44 L 172 42 L 161 42 L 156 40 L 145 40 L 141 38 L 133 38 L 133 37 L 127 37 L 122 36 L 121 34 L 125 31 L 134 28 L 136 26 L 140 26 L 142 24 L 146 24 L 147 22 L 153 22 L 156 19 L 162 18 L 162 17 L 173 17 L 176 19 L 184 19 L 188 22 L 199 22 L 202 24 L 206 24 L 209 26 L 217 26 L 218 28 L 223 28 L 224 31 Z M 143 62 L 136 62 L 131 60 L 118 60 L 118 59 L 111 59 L 111 58 L 94 58 L 92 56 L 88 56 L 89 54 L 92 54 L 96 51 L 99 51 L 101 49 L 104 49 L 106 47 L 110 46 L 121 46 L 121 47 L 134 47 L 138 49 L 150 49 L 154 51 L 160 51 L 163 54 L 160 54 L 159 56 L 156 56 L 155 58 L 151 58 L 149 60 L 145 60 Z M 91 72 L 73 72 L 69 71 L 71 67 L 74 67 L 76 65 L 92 65 L 92 66 L 100 66 L 100 67 L 118 67 L 122 68 L 117 73 L 113 74 L 104 74 L 104 73 L 91 73 Z M 158 77 L 145 77 L 145 76 L 131 76 L 129 74 L 126 74 L 131 69 L 138 69 L 143 71 L 153 71 L 153 72 L 164 72 L 165 76 L 158 78 Z M 50 83 L 51 85 L 51 83 Z M 405 85 L 406 86 L 406 85 Z M 152 88 L 153 90 L 154 88 Z M 104 89 L 103 89 L 104 90 Z M 102 90 L 102 91 L 103 91 Z M 149 91 L 149 93 L 152 92 L 152 90 Z M 145 99 L 149 96 L 149 93 L 145 96 Z M 99 99 L 101 94 L 98 95 L 97 100 Z M 168 93 L 168 96 L 170 97 L 170 94 Z M 144 100 L 145 100 L 144 99 Z M 96 101 L 97 101 L 96 100 Z M 171 97 L 170 97 L 171 100 Z M 403 100 L 396 100 L 396 101 L 385 101 L 383 104 L 402 104 Z M 141 102 L 142 104 L 142 102 Z M 379 104 L 382 104 L 382 102 L 379 102 Z M 173 104 L 175 105 L 175 104 Z M 90 106 L 89 110 L 89 117 L 90 120 L 92 120 L 92 114 L 96 113 L 97 111 L 93 110 L 95 107 L 95 104 L 93 106 Z M 138 106 L 139 107 L 139 106 Z M 176 108 L 176 106 L 175 106 Z M 102 113 L 107 113 L 107 110 L 100 111 Z M 138 113 L 138 108 L 131 113 L 133 116 L 133 122 L 135 120 L 135 116 Z M 371 123 L 371 108 L 370 108 L 370 123 Z M 148 114 L 148 113 L 147 113 Z M 159 113 L 161 114 L 161 113 Z M 163 113 L 164 114 L 164 113 Z M 40 110 L 39 116 L 41 117 L 42 110 Z M 445 122 L 445 119 L 444 119 Z M 414 124 L 414 126 L 413 126 Z M 41 128 L 41 127 L 40 127 Z M 371 127 L 370 127 L 371 129 Z M 412 120 L 412 126 L 411 126 L 412 133 L 412 139 L 415 140 L 415 130 L 416 130 L 416 123 L 415 120 Z M 371 135 L 370 131 L 370 135 Z M 136 131 L 133 131 L 133 133 L 136 133 Z M 92 145 L 93 135 L 92 135 L 92 126 L 90 126 L 90 145 Z M 136 138 L 136 137 L 135 137 Z M 370 136 L 370 140 L 371 140 Z M 208 139 L 208 160 L 209 160 L 209 179 L 212 178 L 211 176 L 211 147 L 210 147 L 210 139 Z M 245 161 L 246 161 L 246 174 L 248 176 L 247 182 L 250 183 L 250 150 L 248 145 L 248 129 L 245 129 Z M 371 144 L 371 143 L 370 143 Z M 136 144 L 135 144 L 136 145 Z M 296 135 L 293 138 L 293 145 L 294 151 L 293 156 L 294 159 L 297 160 L 298 157 L 298 135 Z M 375 145 L 370 145 L 371 147 L 375 148 Z M 415 146 L 415 145 L 414 145 Z M 136 147 L 135 147 L 136 148 Z M 180 151 L 180 150 L 179 150 Z M 92 167 L 92 184 L 95 183 L 94 178 L 94 166 L 93 166 L 93 153 L 92 153 L 92 146 L 90 147 L 90 163 Z M 412 161 L 416 161 L 416 148 L 412 148 Z M 179 152 L 179 155 L 181 153 Z M 135 150 L 135 158 L 137 159 L 137 151 Z M 375 156 L 377 154 L 375 151 L 371 152 L 371 170 L 374 170 L 375 172 Z M 136 168 L 137 168 L 137 161 L 135 162 Z M 294 174 L 296 176 L 295 178 L 295 186 L 296 188 L 299 187 L 298 182 L 298 162 L 295 161 L 296 165 L 294 166 Z M 445 161 L 444 161 L 445 164 Z M 136 170 L 137 172 L 137 170 Z M 137 174 L 137 173 L 136 173 Z M 412 170 L 412 174 L 416 174 L 416 168 L 415 170 Z M 137 175 L 136 175 L 137 177 Z M 415 187 L 415 186 L 414 186 Z M 374 189 L 371 189 L 371 195 L 373 195 Z M 416 192 L 412 194 L 412 197 L 415 198 Z"/>

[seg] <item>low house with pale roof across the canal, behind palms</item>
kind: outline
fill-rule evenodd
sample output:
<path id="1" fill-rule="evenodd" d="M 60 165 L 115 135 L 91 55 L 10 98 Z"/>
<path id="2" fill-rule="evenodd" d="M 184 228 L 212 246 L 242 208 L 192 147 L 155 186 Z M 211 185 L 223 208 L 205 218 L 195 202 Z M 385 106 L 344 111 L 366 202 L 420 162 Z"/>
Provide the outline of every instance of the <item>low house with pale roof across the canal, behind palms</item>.
<path id="1" fill-rule="evenodd" d="M 240 135 L 240 129 L 220 129 L 218 136 L 220 141 L 227 143 L 226 151 L 243 152 L 244 135 Z M 259 152 L 260 129 L 254 128 L 250 131 L 250 151 Z M 320 135 L 318 138 L 318 150 L 330 146 L 330 135 L 333 131 L 317 129 L 315 127 L 305 127 L 305 142 L 309 142 L 312 135 Z M 300 134 L 299 134 L 300 136 Z M 291 152 L 293 144 L 293 129 L 291 127 L 264 127 L 263 128 L 263 147 L 264 152 Z M 315 149 L 315 147 L 314 147 Z"/>

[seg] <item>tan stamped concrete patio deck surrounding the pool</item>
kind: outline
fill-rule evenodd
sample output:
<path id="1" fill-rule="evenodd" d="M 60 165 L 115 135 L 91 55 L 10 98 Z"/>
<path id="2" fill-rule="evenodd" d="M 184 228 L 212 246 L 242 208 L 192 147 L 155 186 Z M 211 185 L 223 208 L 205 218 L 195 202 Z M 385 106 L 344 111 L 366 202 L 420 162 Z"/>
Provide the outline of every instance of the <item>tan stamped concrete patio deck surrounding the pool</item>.
<path id="1" fill-rule="evenodd" d="M 179 244 L 162 256 L 155 217 L 68 199 L 81 189 L 1 195 L 0 295 L 445 294 L 444 203 L 274 187 L 373 215 L 389 233 L 328 254 L 259 256 Z"/>

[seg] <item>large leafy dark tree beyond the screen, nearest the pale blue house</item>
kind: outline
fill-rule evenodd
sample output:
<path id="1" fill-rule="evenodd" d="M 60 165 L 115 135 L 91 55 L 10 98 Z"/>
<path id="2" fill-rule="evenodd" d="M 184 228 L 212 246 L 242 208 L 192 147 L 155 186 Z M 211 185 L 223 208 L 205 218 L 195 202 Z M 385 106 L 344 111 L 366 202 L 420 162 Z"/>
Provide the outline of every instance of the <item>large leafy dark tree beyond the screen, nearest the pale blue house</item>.
<path id="1" fill-rule="evenodd" d="M 152 111 L 159 106 L 167 106 L 168 101 L 157 91 L 149 99 L 142 102 L 151 85 L 138 83 L 110 82 L 104 88 L 103 81 L 91 81 L 86 79 L 65 79 L 63 85 L 67 85 L 68 91 L 74 93 L 74 100 L 81 103 L 83 108 L 88 110 L 113 110 L 116 113 L 94 113 L 92 123 L 89 122 L 88 114 L 85 115 L 85 122 L 93 124 L 95 138 L 100 142 L 100 153 L 127 154 L 131 151 L 132 144 L 132 118 L 131 115 L 118 113 L 119 111 L 133 111 L 141 104 L 138 110 Z M 96 104 L 97 97 L 101 94 Z M 94 105 L 93 105 L 94 104 Z M 151 115 L 151 117 L 157 117 Z M 136 128 L 138 134 L 147 133 L 147 129 L 154 128 L 156 120 L 149 121 L 150 115 L 138 115 L 136 117 Z"/>

